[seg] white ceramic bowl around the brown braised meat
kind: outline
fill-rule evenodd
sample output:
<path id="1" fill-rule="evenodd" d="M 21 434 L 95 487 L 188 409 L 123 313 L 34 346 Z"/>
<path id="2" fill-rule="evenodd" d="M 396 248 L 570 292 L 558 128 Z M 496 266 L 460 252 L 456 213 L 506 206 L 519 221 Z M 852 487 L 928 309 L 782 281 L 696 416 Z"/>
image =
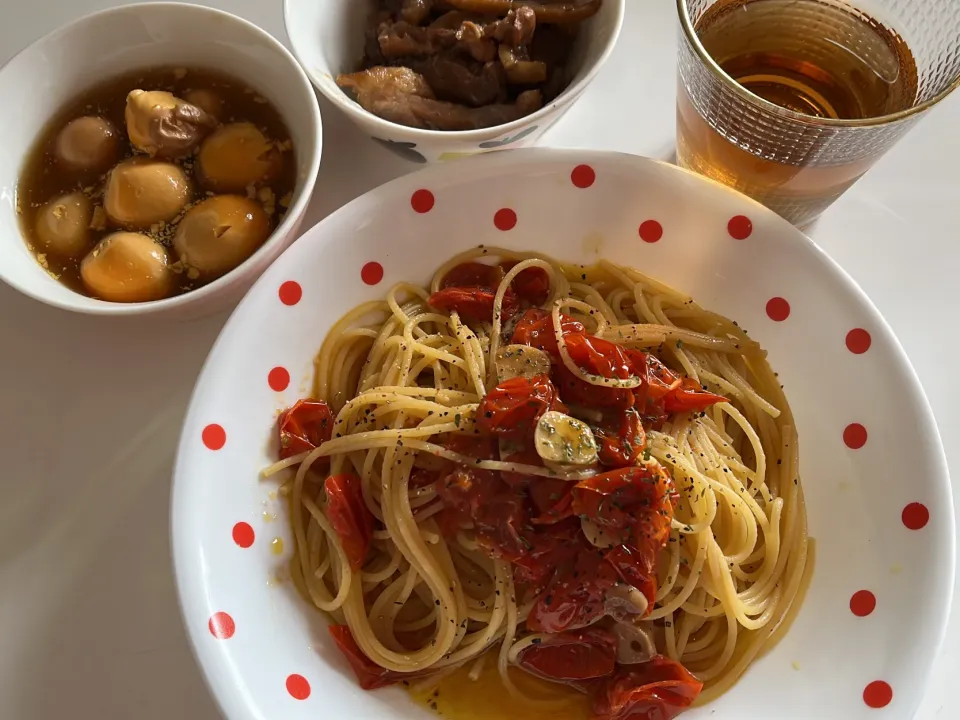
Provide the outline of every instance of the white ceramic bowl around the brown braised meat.
<path id="1" fill-rule="evenodd" d="M 284 0 L 290 45 L 317 89 L 370 137 L 407 160 L 433 163 L 535 144 L 580 97 L 613 51 L 626 0 L 603 0 L 600 11 L 583 24 L 572 59 L 573 80 L 553 102 L 505 125 L 462 132 L 421 130 L 383 120 L 337 86 L 337 75 L 357 70 L 363 58 L 369 7 L 368 0 Z"/>

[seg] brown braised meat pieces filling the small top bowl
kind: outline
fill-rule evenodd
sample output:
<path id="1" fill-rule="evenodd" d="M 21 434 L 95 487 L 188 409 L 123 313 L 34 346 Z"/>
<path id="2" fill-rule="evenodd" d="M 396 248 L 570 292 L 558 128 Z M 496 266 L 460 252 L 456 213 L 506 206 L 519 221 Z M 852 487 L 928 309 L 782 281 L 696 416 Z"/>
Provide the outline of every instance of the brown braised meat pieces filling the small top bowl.
<path id="1" fill-rule="evenodd" d="M 433 130 L 536 112 L 569 83 L 580 23 L 603 0 L 370 0 L 362 70 L 337 84 L 367 111 Z"/>

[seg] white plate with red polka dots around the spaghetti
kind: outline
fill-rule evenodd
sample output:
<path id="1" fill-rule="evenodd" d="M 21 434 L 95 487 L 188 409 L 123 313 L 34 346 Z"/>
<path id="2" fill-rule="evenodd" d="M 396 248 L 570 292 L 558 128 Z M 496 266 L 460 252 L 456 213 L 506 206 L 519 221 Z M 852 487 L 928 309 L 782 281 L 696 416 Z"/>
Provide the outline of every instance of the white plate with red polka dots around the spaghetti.
<path id="1" fill-rule="evenodd" d="M 290 247 L 221 333 L 184 425 L 172 532 L 184 620 L 224 714 L 431 715 L 398 689 L 357 686 L 288 579 L 287 510 L 259 471 L 332 324 L 479 244 L 636 267 L 749 328 L 780 373 L 813 580 L 776 648 L 684 720 L 913 717 L 949 611 L 953 503 L 890 328 L 807 237 L 732 190 L 644 158 L 544 150 L 432 167 L 354 200 Z"/>

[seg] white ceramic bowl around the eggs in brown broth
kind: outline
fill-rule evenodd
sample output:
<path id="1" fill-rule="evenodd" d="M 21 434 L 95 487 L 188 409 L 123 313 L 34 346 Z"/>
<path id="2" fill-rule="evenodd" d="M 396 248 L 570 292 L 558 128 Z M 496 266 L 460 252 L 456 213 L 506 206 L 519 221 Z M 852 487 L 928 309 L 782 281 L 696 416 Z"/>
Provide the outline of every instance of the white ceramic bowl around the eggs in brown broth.
<path id="1" fill-rule="evenodd" d="M 240 267 L 183 295 L 146 303 L 95 300 L 60 284 L 37 264 L 15 210 L 18 176 L 49 119 L 85 88 L 138 68 L 202 67 L 248 83 L 290 130 L 297 186 L 286 218 Z M 238 300 L 296 237 L 320 168 L 320 109 L 310 81 L 271 35 L 229 13 L 196 5 L 127 5 L 88 15 L 21 51 L 0 69 L 0 278 L 37 300 L 99 315 L 196 316 Z"/>

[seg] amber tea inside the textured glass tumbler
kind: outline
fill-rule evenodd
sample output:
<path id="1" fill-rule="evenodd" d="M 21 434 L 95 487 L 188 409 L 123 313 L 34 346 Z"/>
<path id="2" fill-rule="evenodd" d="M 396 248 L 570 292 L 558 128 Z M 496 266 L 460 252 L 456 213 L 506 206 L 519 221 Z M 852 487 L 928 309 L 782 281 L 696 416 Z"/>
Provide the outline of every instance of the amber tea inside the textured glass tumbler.
<path id="1" fill-rule="evenodd" d="M 882 152 L 839 135 L 830 121 L 880 118 L 917 100 L 917 65 L 900 35 L 836 0 L 719 0 L 694 29 L 733 80 L 810 124 L 761 122 L 742 99 L 738 112 L 702 73 L 684 68 L 681 50 L 679 164 L 797 224 L 819 215 Z"/>

